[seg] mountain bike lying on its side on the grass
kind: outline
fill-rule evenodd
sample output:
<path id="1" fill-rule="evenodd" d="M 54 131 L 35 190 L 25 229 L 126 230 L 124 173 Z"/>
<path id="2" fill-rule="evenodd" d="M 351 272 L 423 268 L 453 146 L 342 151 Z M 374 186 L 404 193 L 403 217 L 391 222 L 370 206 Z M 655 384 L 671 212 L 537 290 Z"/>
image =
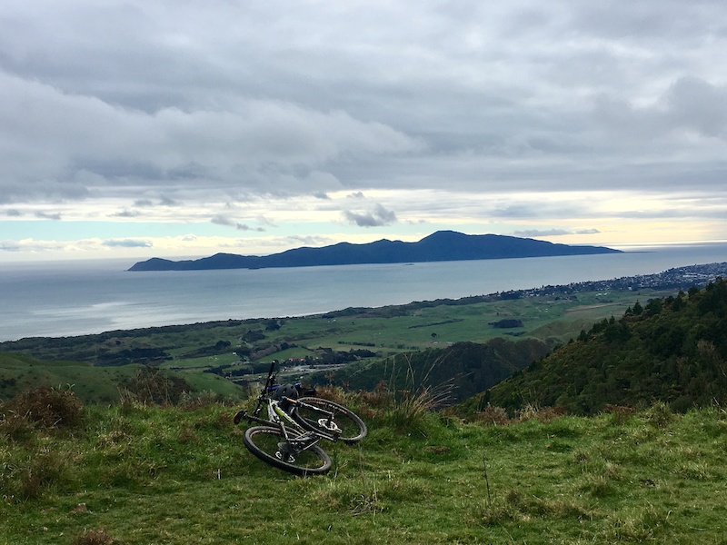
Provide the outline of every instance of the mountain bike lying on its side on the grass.
<path id="1" fill-rule="evenodd" d="M 323 474 L 331 469 L 331 457 L 318 443 L 361 441 L 366 424 L 343 405 L 308 395 L 314 390 L 306 391 L 300 383 L 276 384 L 274 366 L 270 366 L 254 411 L 234 415 L 235 424 L 243 420 L 262 424 L 244 432 L 244 446 L 278 469 L 304 477 Z M 267 418 L 261 416 L 263 410 Z"/>

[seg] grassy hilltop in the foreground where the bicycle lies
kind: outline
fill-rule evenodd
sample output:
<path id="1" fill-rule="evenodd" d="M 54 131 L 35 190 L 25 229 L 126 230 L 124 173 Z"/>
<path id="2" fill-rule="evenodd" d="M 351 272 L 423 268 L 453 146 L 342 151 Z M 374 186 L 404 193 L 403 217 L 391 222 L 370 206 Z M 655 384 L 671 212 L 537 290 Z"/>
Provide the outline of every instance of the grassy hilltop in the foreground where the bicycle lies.
<path id="1" fill-rule="evenodd" d="M 716 544 L 727 534 L 727 413 L 714 408 L 463 423 L 387 391 L 347 396 L 369 437 L 326 445 L 334 471 L 300 479 L 244 449 L 232 407 L 60 397 L 68 418 L 55 425 L 0 411 L 0 543 Z"/>

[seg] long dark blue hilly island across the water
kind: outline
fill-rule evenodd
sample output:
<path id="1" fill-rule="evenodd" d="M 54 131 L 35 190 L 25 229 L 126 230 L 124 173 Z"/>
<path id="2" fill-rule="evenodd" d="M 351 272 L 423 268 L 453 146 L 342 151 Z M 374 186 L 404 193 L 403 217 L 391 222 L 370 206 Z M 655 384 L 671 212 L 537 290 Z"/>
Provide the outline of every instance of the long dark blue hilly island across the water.
<path id="1" fill-rule="evenodd" d="M 210 257 L 184 261 L 154 257 L 134 263 L 129 271 L 202 271 L 361 263 L 426 263 L 593 253 L 621 253 L 621 251 L 603 246 L 569 246 L 499 234 L 438 231 L 418 243 L 383 239 L 366 244 L 338 243 L 323 248 L 295 248 L 263 256 L 215 253 Z"/>

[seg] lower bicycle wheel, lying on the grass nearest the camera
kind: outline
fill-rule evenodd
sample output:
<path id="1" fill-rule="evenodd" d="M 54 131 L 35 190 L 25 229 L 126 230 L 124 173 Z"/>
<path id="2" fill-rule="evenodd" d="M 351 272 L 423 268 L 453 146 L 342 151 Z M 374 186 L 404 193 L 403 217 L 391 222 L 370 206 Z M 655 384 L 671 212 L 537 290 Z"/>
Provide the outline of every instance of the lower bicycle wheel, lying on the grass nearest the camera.
<path id="1" fill-rule="evenodd" d="M 301 441 L 295 441 L 296 439 Z M 331 458 L 319 446 L 302 449 L 302 436 L 285 441 L 283 432 L 277 428 L 254 426 L 244 432 L 244 446 L 260 460 L 283 471 L 296 475 L 321 475 L 331 469 Z"/>

